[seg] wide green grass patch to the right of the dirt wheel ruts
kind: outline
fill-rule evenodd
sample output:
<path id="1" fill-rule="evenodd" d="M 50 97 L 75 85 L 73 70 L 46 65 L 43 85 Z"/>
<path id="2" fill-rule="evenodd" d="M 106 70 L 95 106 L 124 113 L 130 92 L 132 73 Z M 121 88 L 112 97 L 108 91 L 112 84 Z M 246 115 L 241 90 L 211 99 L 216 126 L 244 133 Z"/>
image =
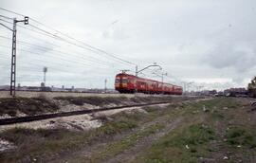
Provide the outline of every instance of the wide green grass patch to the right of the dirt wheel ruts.
<path id="1" fill-rule="evenodd" d="M 199 157 L 210 158 L 212 154 L 221 155 L 224 153 L 222 151 L 227 150 L 251 157 L 256 151 L 256 135 L 252 124 L 247 122 L 247 112 L 243 111 L 243 106 L 247 105 L 242 100 L 232 98 L 216 98 L 178 105 L 179 116 L 186 118 L 186 121 L 170 134 L 161 137 L 143 154 L 137 155 L 133 162 L 198 162 Z M 208 112 L 204 112 L 203 107 L 208 109 Z M 224 109 L 225 107 L 228 109 Z M 236 127 L 229 127 L 230 120 L 238 125 L 232 124 Z M 243 127 L 240 124 L 243 124 Z M 223 141 L 223 137 L 226 137 L 227 141 Z M 242 149 L 239 150 L 237 145 L 241 145 Z M 237 159 L 232 157 L 229 161 Z"/>

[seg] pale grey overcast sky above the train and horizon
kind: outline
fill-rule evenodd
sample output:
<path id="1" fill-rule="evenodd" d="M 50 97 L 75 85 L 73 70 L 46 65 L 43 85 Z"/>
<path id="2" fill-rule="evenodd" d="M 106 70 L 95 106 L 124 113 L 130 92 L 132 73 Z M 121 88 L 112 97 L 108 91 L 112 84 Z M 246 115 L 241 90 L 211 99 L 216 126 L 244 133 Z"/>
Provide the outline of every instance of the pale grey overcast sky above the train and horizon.
<path id="1" fill-rule="evenodd" d="M 157 63 L 168 73 L 168 82 L 194 81 L 205 88 L 224 89 L 246 87 L 256 75 L 255 0 L 1 0 L 0 7 L 137 63 L 138 68 Z M 0 15 L 22 19 L 4 10 Z M 17 44 L 17 81 L 22 85 L 39 85 L 44 66 L 48 67 L 48 85 L 66 87 L 101 88 L 107 79 L 113 88 L 119 70 L 135 71 L 133 64 L 19 25 L 18 40 L 33 44 Z M 11 32 L 0 27 L 0 36 L 11 38 Z M 9 84 L 11 40 L 0 38 L 0 43 L 1 85 Z M 152 71 L 140 75 L 160 80 Z"/>

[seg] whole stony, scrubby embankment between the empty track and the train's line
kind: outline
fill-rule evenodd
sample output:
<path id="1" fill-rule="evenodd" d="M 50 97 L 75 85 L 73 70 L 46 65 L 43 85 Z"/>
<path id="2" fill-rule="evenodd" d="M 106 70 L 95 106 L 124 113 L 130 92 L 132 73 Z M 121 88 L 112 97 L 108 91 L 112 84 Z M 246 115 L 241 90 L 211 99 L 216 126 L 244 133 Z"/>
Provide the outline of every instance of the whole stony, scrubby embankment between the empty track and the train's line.
<path id="1" fill-rule="evenodd" d="M 0 99 L 0 118 L 33 116 L 53 112 L 68 112 L 99 107 L 114 107 L 140 103 L 185 100 L 182 97 L 148 96 L 148 97 L 56 97 L 6 98 Z"/>

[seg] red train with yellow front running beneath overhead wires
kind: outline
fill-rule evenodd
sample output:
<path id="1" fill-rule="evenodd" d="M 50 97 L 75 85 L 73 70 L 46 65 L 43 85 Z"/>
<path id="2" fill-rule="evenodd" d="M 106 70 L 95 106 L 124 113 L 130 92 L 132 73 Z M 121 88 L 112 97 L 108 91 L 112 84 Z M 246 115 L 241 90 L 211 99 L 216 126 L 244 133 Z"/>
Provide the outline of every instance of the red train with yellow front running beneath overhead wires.
<path id="1" fill-rule="evenodd" d="M 170 83 L 139 78 L 134 75 L 120 73 L 116 76 L 115 89 L 119 93 L 145 93 L 182 95 L 182 87 Z"/>

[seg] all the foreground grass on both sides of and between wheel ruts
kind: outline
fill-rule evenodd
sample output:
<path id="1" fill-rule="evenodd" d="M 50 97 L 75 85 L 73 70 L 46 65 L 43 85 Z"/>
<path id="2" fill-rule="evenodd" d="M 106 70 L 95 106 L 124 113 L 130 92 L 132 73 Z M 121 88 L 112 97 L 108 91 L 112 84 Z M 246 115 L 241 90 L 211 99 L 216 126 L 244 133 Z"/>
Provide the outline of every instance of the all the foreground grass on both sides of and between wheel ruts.
<path id="1" fill-rule="evenodd" d="M 134 162 L 198 162 L 199 157 L 211 158 L 214 154 L 223 156 L 227 151 L 232 154 L 247 155 L 246 157 L 250 158 L 256 154 L 255 124 L 248 120 L 252 113 L 247 113 L 244 106 L 247 107 L 247 103 L 243 100 L 216 98 L 171 104 L 166 108 L 144 107 L 147 113 L 121 112 L 111 118 L 106 118 L 103 126 L 89 132 L 71 132 L 62 129 L 12 129 L 1 133 L 0 137 L 14 142 L 18 148 L 11 153 L 0 154 L 0 159 L 6 162 L 16 162 L 27 156 L 40 160 L 44 158 L 44 155 L 48 157 L 50 154 L 66 154 L 68 151 L 79 150 L 86 144 L 132 131 L 146 122 L 162 117 L 166 118 L 166 123 L 175 118 L 183 120 L 172 132 L 160 137 L 151 147 L 139 153 Z M 203 107 L 209 111 L 204 112 Z M 225 107 L 228 109 L 224 109 Z M 86 160 L 101 162 L 120 154 L 134 147 L 141 138 L 153 135 L 164 127 L 165 123 L 156 123 L 138 130 L 137 133 L 107 144 L 101 152 L 93 154 L 93 157 L 86 158 Z M 238 145 L 242 147 L 237 148 Z M 246 157 L 243 160 L 249 162 Z M 229 161 L 238 159 L 240 158 L 233 155 Z M 78 162 L 82 160 L 84 160 L 82 156 L 74 159 Z"/>

